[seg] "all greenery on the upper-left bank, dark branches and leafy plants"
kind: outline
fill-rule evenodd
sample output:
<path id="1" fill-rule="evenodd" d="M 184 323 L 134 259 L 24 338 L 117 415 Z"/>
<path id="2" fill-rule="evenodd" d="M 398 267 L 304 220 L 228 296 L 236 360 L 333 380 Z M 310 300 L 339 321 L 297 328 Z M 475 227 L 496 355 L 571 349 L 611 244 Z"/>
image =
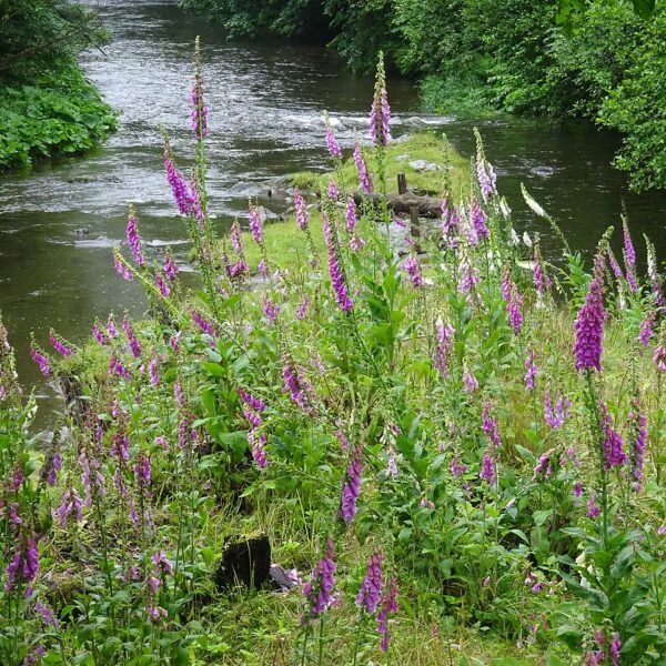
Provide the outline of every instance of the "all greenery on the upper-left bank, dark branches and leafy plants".
<path id="1" fill-rule="evenodd" d="M 0 170 L 88 150 L 115 129 L 77 62 L 103 39 L 94 13 L 69 1 L 0 8 Z"/>

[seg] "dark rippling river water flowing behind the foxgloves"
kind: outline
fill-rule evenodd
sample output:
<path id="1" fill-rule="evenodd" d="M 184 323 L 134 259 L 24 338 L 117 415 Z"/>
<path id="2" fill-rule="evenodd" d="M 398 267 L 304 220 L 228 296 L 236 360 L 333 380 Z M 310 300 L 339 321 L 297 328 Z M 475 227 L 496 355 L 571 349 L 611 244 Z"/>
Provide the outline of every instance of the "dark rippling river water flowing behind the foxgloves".
<path id="1" fill-rule="evenodd" d="M 51 326 L 77 342 L 95 316 L 144 310 L 139 286 L 121 280 L 112 264 L 111 246 L 124 236 L 129 203 L 138 211 L 149 252 L 152 246 L 161 253 L 169 243 L 184 261 L 185 232 L 164 180 L 159 127 L 172 137 L 178 161 L 186 167 L 193 153 L 189 104 L 196 34 L 210 107 L 210 204 L 221 229 L 272 178 L 324 168 L 323 110 L 343 145 L 365 134 L 372 97 L 373 81 L 350 74 L 325 49 L 230 43 L 215 27 L 183 16 L 174 2 L 113 0 L 101 6 L 101 13 L 113 38 L 103 52 L 87 53 L 84 65 L 121 110 L 119 132 L 83 158 L 41 163 L 30 175 L 0 181 L 0 311 L 24 385 L 36 386 L 44 398 L 53 396 L 53 387 L 28 357 L 30 332 L 44 346 Z M 443 130 L 468 155 L 472 128 L 480 127 L 519 231 L 536 224 L 522 201 L 521 181 L 583 251 L 617 223 L 625 195 L 636 241 L 649 233 L 666 256 L 666 196 L 625 193 L 625 179 L 609 167 L 617 148 L 612 134 L 516 119 L 475 123 L 428 117 L 418 112 L 412 83 L 392 80 L 389 88 L 394 135 Z M 82 228 L 88 234 L 77 236 Z"/>

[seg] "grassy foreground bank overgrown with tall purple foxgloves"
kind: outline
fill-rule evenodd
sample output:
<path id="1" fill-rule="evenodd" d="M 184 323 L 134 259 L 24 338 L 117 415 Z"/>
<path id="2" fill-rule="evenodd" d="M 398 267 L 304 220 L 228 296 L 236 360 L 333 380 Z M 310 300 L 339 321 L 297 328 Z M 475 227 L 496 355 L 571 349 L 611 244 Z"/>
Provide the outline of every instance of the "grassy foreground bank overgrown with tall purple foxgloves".
<path id="1" fill-rule="evenodd" d="M 481 141 L 474 178 L 442 161 L 467 189 L 426 254 L 396 251 L 372 191 L 337 205 L 357 179 L 334 145 L 339 195 L 290 221 L 302 252 L 285 261 L 253 206 L 249 235 L 219 239 L 195 81 L 194 182 L 169 150 L 167 173 L 201 289 L 168 251 L 149 261 L 130 211 L 113 261 L 150 316 L 98 321 L 82 349 L 36 335 L 64 398 L 47 444 L 0 325 L 0 660 L 663 664 L 666 301 L 649 241 L 646 273 L 626 223 L 622 263 L 608 230 L 592 271 L 559 235 L 549 264 L 538 238 L 515 242 Z M 359 180 L 387 189 L 400 150 L 377 139 Z"/>

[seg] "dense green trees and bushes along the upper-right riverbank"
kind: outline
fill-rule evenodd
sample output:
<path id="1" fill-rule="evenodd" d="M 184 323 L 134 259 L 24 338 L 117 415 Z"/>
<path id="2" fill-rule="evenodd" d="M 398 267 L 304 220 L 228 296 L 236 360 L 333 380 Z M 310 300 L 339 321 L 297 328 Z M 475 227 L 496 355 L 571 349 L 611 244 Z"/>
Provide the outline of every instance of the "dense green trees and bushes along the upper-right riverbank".
<path id="1" fill-rule="evenodd" d="M 635 190 L 666 186 L 666 3 L 645 0 L 181 0 L 231 36 L 319 34 L 357 71 L 383 50 L 425 105 L 584 118 L 617 130 Z M 654 13 L 649 14 L 654 6 Z M 638 11 L 636 11 L 638 10 Z"/>

